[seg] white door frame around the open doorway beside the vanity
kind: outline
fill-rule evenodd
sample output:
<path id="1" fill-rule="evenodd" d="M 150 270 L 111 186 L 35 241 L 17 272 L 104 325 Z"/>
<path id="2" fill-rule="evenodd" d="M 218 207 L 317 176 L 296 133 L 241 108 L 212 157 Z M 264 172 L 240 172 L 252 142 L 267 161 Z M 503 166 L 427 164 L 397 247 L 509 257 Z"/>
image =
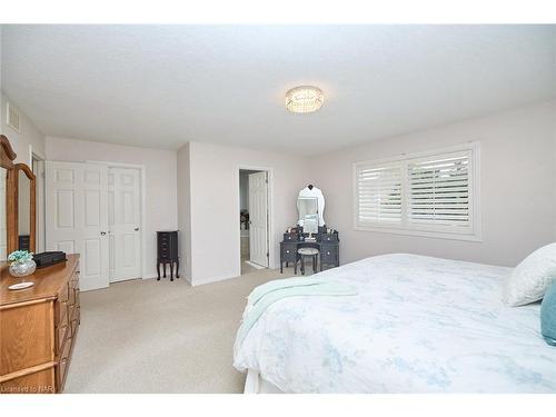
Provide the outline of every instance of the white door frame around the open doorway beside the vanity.
<path id="1" fill-rule="evenodd" d="M 238 270 L 238 277 L 241 275 L 241 222 L 239 219 L 239 214 L 241 211 L 241 199 L 239 196 L 239 171 L 240 170 L 248 170 L 248 171 L 265 171 L 267 172 L 267 179 L 268 179 L 268 187 L 267 187 L 267 239 L 268 239 L 268 269 L 274 269 L 276 267 L 276 250 L 275 250 L 275 244 L 274 244 L 274 211 L 275 211 L 275 206 L 274 206 L 274 181 L 275 181 L 275 176 L 274 176 L 274 168 L 270 167 L 260 167 L 260 166 L 254 166 L 254 165 L 248 165 L 248 163 L 240 163 L 236 166 L 236 173 L 234 176 L 234 190 L 236 190 L 236 196 L 237 196 L 237 206 L 236 206 L 236 222 L 234 222 L 234 226 L 237 231 L 238 236 L 238 247 L 237 247 L 237 254 L 236 254 L 236 261 L 237 261 L 237 270 Z"/>

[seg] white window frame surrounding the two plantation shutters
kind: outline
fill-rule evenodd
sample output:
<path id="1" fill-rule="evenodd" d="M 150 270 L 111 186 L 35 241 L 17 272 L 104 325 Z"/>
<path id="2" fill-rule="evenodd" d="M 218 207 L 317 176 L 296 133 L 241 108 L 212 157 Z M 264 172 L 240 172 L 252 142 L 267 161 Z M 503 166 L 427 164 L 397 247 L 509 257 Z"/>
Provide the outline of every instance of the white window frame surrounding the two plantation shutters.
<path id="1" fill-rule="evenodd" d="M 408 224 L 407 208 L 409 206 L 408 198 L 408 181 L 409 175 L 407 166 L 409 161 L 419 158 L 434 158 L 437 156 L 446 156 L 455 152 L 470 151 L 469 167 L 469 224 L 470 227 L 464 230 L 450 229 L 449 227 L 436 225 L 410 225 Z M 380 222 L 359 222 L 358 207 L 358 171 L 361 167 L 380 167 L 385 165 L 401 166 L 401 224 L 385 225 Z M 434 149 L 428 151 L 401 153 L 394 157 L 356 161 L 353 163 L 353 221 L 354 230 L 374 231 L 381 234 L 396 234 L 408 236 L 420 236 L 428 238 L 441 238 L 454 240 L 483 241 L 483 228 L 480 216 L 480 142 L 471 141 L 451 147 Z"/>

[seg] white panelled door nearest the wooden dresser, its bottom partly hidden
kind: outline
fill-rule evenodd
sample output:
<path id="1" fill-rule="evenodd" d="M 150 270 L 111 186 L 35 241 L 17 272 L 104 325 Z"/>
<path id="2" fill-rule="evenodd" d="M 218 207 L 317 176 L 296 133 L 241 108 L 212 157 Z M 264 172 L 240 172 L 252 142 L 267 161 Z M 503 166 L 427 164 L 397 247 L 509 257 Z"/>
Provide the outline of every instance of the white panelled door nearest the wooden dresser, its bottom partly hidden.
<path id="1" fill-rule="evenodd" d="M 44 165 L 47 250 L 81 255 L 81 289 L 108 287 L 108 168 Z"/>

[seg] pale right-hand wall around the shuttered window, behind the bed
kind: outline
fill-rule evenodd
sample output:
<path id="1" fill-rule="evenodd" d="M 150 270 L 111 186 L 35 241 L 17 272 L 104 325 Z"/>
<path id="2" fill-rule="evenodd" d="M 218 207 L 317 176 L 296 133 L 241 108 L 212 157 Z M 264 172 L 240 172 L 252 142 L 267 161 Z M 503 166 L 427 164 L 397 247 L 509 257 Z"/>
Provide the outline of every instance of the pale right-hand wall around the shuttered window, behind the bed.
<path id="1" fill-rule="evenodd" d="M 480 141 L 484 241 L 354 230 L 353 162 L 467 141 Z M 340 232 L 342 264 L 413 252 L 515 266 L 556 240 L 556 101 L 329 152 L 310 165 L 326 197 L 327 224 Z"/>

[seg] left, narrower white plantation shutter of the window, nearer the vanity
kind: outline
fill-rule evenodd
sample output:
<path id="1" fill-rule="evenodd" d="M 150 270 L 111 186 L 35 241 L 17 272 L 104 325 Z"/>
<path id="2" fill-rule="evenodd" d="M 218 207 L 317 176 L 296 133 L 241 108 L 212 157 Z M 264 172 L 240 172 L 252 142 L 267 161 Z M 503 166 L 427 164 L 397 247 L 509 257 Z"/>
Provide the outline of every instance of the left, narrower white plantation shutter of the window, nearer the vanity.
<path id="1" fill-rule="evenodd" d="M 401 166 L 356 167 L 357 224 L 401 222 Z"/>

